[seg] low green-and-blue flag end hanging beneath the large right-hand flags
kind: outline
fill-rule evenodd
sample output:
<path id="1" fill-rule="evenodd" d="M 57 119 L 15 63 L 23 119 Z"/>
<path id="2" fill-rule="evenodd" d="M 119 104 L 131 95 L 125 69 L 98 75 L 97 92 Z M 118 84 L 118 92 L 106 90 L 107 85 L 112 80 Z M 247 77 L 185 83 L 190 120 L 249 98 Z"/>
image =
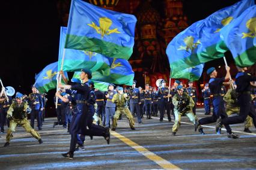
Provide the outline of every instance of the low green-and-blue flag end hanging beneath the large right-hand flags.
<path id="1" fill-rule="evenodd" d="M 190 81 L 199 80 L 202 75 L 203 69 L 204 63 L 177 72 L 171 71 L 171 78 L 186 78 Z"/>

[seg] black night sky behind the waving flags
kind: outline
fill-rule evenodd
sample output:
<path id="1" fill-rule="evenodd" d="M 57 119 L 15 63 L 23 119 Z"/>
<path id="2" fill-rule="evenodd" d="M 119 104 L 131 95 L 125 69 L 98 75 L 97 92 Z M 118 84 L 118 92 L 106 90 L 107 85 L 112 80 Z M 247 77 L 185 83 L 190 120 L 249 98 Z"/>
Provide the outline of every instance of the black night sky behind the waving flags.
<path id="1" fill-rule="evenodd" d="M 183 1 L 184 14 L 190 25 L 235 2 L 237 1 L 187 0 Z M 156 5 L 158 11 L 163 11 L 160 9 L 160 0 L 153 3 L 159 4 Z M 16 91 L 28 95 L 31 93 L 30 86 L 34 84 L 35 74 L 58 60 L 61 20 L 58 18 L 56 1 L 2 1 L 0 11 L 0 77 L 4 86 L 12 86 Z M 207 63 L 206 66 L 213 63 L 216 61 Z"/>

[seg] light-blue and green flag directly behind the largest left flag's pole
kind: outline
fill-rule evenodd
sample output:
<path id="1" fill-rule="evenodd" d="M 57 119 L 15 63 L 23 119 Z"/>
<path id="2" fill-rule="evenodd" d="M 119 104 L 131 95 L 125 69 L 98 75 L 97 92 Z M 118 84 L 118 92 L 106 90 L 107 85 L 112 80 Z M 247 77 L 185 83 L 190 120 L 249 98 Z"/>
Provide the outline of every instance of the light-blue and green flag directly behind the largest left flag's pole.
<path id="1" fill-rule="evenodd" d="M 92 51 L 81 51 L 67 48 L 65 49 L 65 54 L 63 56 L 66 35 L 67 28 L 61 27 L 58 70 L 61 70 L 62 64 L 63 71 L 80 71 L 82 68 L 96 71 L 104 64 L 102 54 L 94 53 Z M 62 57 L 64 57 L 64 60 L 62 60 Z"/>

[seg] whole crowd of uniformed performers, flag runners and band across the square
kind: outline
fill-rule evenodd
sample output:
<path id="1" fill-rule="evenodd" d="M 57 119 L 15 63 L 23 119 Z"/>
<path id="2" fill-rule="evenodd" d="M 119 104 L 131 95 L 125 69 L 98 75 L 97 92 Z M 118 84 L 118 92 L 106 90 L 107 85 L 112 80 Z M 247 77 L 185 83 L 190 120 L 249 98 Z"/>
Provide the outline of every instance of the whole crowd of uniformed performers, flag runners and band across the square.
<path id="1" fill-rule="evenodd" d="M 246 73 L 247 68 L 237 67 L 236 81 L 230 79 L 230 68 L 227 66 L 225 77 L 217 78 L 218 72 L 215 68 L 209 68 L 207 74 L 209 83 L 204 84 L 202 97 L 206 116 L 198 120 L 196 116 L 196 105 L 198 93 L 193 82 L 189 81 L 185 87 L 179 80 L 175 80 L 171 87 L 166 87 L 166 81 L 162 80 L 158 89 L 145 84 L 145 89 L 136 87 L 136 81 L 130 88 L 109 84 L 108 91 L 102 92 L 94 88 L 91 71 L 82 69 L 78 82 L 67 82 L 64 74 L 62 78 L 66 84 L 58 84 L 59 92 L 56 106 L 57 125 L 67 128 L 71 135 L 70 149 L 62 156 L 73 159 L 75 151 L 84 149 L 85 136 L 103 136 L 109 144 L 110 129 L 117 129 L 117 122 L 124 114 L 129 120 L 130 129 L 135 130 L 135 120 L 142 124 L 142 119 L 152 119 L 159 116 L 162 122 L 167 115 L 171 122 L 171 114 L 174 117 L 172 136 L 175 136 L 181 125 L 181 116 L 187 116 L 194 124 L 195 131 L 204 135 L 203 126 L 216 122 L 216 133 L 221 133 L 222 126 L 227 129 L 228 138 L 239 138 L 232 132 L 230 125 L 245 122 L 245 132 L 251 133 L 249 129 L 254 123 L 256 127 L 255 114 L 255 86 L 256 77 Z M 226 92 L 225 86 L 230 86 Z M 8 125 L 6 142 L 4 147 L 10 145 L 10 139 L 17 125 L 25 128 L 41 144 L 40 134 L 34 130 L 34 119 L 37 119 L 38 130 L 42 129 L 44 121 L 44 107 L 47 99 L 46 94 L 38 93 L 32 86 L 29 96 L 17 92 L 15 99 L 5 96 L 4 88 L 0 93 L 0 118 L 1 132 L 4 133 L 4 125 Z M 7 100 L 8 98 L 8 100 Z M 213 110 L 211 113 L 210 105 Z M 237 116 L 230 116 L 236 113 Z M 28 122 L 30 114 L 30 123 Z M 135 119 L 134 119 L 135 118 Z"/>

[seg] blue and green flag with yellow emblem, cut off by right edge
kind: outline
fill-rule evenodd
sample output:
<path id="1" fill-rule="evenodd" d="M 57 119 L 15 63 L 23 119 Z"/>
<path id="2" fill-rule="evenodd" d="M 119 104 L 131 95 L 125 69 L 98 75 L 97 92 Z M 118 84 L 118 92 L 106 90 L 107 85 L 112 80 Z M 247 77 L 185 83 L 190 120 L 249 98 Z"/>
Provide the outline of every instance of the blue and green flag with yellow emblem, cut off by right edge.
<path id="1" fill-rule="evenodd" d="M 230 25 L 221 29 L 221 38 L 230 49 L 236 65 L 256 62 L 256 5 L 248 8 Z"/>

